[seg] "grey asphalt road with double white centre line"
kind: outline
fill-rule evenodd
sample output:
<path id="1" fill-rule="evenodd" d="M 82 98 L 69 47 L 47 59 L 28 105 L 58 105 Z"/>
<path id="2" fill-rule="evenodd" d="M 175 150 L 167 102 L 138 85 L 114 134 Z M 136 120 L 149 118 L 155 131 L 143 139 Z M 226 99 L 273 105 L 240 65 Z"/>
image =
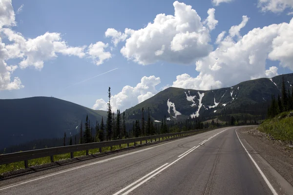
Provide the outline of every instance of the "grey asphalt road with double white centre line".
<path id="1" fill-rule="evenodd" d="M 236 128 L 97 158 L 1 186 L 0 195 L 272 195 Z"/>

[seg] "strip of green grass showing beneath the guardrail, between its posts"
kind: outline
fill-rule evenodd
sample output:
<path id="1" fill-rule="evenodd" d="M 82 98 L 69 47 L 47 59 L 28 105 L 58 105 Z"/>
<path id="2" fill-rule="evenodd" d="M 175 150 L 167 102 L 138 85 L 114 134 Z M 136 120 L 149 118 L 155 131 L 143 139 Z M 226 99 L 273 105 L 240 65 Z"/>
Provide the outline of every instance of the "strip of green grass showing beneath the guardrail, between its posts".
<path id="1" fill-rule="evenodd" d="M 197 133 L 200 133 L 200 132 L 202 132 L 202 131 L 198 131 Z M 160 138 L 161 141 L 166 140 L 166 139 L 168 139 L 168 137 L 161 137 Z M 157 138 L 157 141 L 159 141 L 158 138 Z M 149 142 L 151 142 L 151 140 L 148 139 L 147 142 L 149 143 Z M 153 139 L 152 142 L 155 142 L 155 139 Z M 142 144 L 145 144 L 145 143 L 146 143 L 146 140 L 143 140 Z M 140 145 L 140 141 L 137 141 L 136 145 Z M 131 146 L 134 146 L 134 143 L 129 143 L 129 147 L 131 147 Z M 122 148 L 127 148 L 127 144 L 122 144 L 121 148 L 119 147 L 119 145 L 112 146 L 112 149 L 111 149 L 111 147 L 103 147 L 102 153 L 114 151 L 114 150 L 118 150 L 118 149 L 122 149 Z M 99 148 L 91 149 L 88 151 L 89 155 L 98 154 L 98 153 L 100 153 Z M 85 156 L 85 155 L 86 155 L 86 151 L 78 151 L 78 152 L 73 153 L 74 157 L 80 157 L 80 156 Z M 62 154 L 62 155 L 55 155 L 54 161 L 60 161 L 60 160 L 69 159 L 69 158 L 70 158 L 70 153 L 66 153 L 66 154 Z M 51 162 L 50 156 L 47 156 L 47 157 L 28 160 L 28 166 L 31 167 L 31 166 L 36 166 L 36 165 L 47 164 L 50 162 Z M 24 169 L 24 162 L 23 161 L 0 165 L 0 174 L 19 170 L 19 169 Z"/>

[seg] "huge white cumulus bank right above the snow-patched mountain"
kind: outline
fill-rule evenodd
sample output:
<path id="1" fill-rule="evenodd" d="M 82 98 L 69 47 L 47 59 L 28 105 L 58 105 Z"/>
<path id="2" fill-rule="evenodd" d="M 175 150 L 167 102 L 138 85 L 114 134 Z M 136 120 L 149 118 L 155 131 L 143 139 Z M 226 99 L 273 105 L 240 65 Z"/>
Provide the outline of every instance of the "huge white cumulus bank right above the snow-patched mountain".
<path id="1" fill-rule="evenodd" d="M 199 76 L 179 75 L 172 86 L 208 90 L 210 87 L 228 87 L 244 80 L 276 76 L 277 67 L 266 70 L 267 59 L 280 61 L 281 66 L 293 70 L 293 19 L 289 23 L 254 28 L 243 37 L 239 31 L 246 21 L 241 23 L 237 28 L 231 27 L 226 37 L 222 32 L 216 41 L 218 48 L 196 62 Z M 232 39 L 234 36 L 239 39 L 235 41 Z"/>

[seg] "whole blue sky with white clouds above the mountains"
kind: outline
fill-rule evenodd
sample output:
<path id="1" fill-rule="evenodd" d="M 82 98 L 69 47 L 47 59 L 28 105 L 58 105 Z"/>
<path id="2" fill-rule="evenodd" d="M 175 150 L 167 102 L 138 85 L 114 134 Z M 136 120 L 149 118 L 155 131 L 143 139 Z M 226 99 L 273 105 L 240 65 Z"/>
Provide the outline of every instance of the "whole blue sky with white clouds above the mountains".
<path id="1" fill-rule="evenodd" d="M 274 7 L 274 1 L 280 6 Z M 177 3 L 174 0 L 13 0 L 11 7 L 8 5 L 10 0 L 0 2 L 7 5 L 0 9 L 0 38 L 6 52 L 6 57 L 2 55 L 1 59 L 6 64 L 2 67 L 6 69 L 0 72 L 4 80 L 0 83 L 0 98 L 3 99 L 53 96 L 86 107 L 105 109 L 110 86 L 112 95 L 116 95 L 113 97 L 114 108 L 124 110 L 168 86 L 206 90 L 232 86 L 251 78 L 292 73 L 293 70 L 292 47 L 282 44 L 293 45 L 293 39 L 289 38 L 290 35 L 293 37 L 293 22 L 290 23 L 293 3 L 286 4 L 285 0 L 184 0 Z M 192 9 L 188 9 L 188 5 Z M 214 17 L 205 22 L 210 8 L 213 8 L 210 11 Z M 182 10 L 184 14 L 180 15 Z M 192 10 L 201 18 L 200 24 Z M 15 21 L 11 14 L 15 15 Z M 154 23 L 158 14 L 171 15 L 174 19 L 146 27 L 149 22 Z M 247 16 L 247 21 L 243 16 Z M 172 26 L 169 30 L 165 28 L 167 22 Z M 239 25 L 241 22 L 242 26 Z M 272 26 L 283 22 L 285 25 Z M 189 27 L 180 26 L 184 23 Z M 232 26 L 236 27 L 230 31 Z M 266 26 L 269 27 L 256 29 Z M 105 32 L 109 28 L 112 28 L 111 32 L 115 29 L 118 35 L 108 31 L 107 36 Z M 127 34 L 126 28 L 132 29 L 132 34 Z M 250 33 L 253 29 L 255 33 Z M 226 31 L 226 39 L 223 37 L 215 43 L 223 31 Z M 65 49 L 52 50 L 49 43 L 44 43 L 40 53 L 30 53 L 29 47 L 39 52 L 36 48 L 41 42 L 32 41 L 32 46 L 27 40 L 46 32 L 57 33 L 54 34 L 57 36 L 55 41 L 63 42 Z M 13 36 L 17 33 L 27 41 L 27 51 L 15 57 L 12 53 L 22 51 L 21 43 L 12 49 L 8 45 L 16 42 Z M 47 35 L 53 37 L 53 34 Z M 120 40 L 116 47 L 111 38 Z M 45 38 L 38 40 L 42 39 Z M 103 48 L 99 43 L 90 53 L 90 45 L 99 41 L 107 47 L 104 45 Z M 121 50 L 123 47 L 125 52 Z M 215 52 L 217 47 L 221 52 Z M 72 52 L 72 48 L 76 52 Z M 159 48 L 163 54 L 154 55 Z M 95 55 L 97 52 L 100 53 Z M 111 57 L 105 57 L 102 63 L 101 55 Z M 31 61 L 21 62 L 27 56 Z M 43 61 L 41 68 L 35 63 L 37 59 Z M 98 61 L 100 64 L 97 65 Z M 113 70 L 115 68 L 118 69 Z M 110 70 L 113 71 L 75 85 Z M 21 84 L 13 83 L 15 77 Z M 124 88 L 127 85 L 132 88 Z"/>

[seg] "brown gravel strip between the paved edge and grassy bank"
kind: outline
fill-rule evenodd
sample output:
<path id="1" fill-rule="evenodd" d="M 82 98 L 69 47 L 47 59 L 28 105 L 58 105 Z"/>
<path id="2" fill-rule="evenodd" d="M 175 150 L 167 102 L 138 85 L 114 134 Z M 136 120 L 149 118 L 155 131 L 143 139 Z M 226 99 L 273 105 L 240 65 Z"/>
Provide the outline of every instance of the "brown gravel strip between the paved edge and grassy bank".
<path id="1" fill-rule="evenodd" d="M 239 133 L 255 152 L 293 186 L 293 148 L 290 143 L 274 140 L 259 132 L 257 127 L 243 128 Z"/>

